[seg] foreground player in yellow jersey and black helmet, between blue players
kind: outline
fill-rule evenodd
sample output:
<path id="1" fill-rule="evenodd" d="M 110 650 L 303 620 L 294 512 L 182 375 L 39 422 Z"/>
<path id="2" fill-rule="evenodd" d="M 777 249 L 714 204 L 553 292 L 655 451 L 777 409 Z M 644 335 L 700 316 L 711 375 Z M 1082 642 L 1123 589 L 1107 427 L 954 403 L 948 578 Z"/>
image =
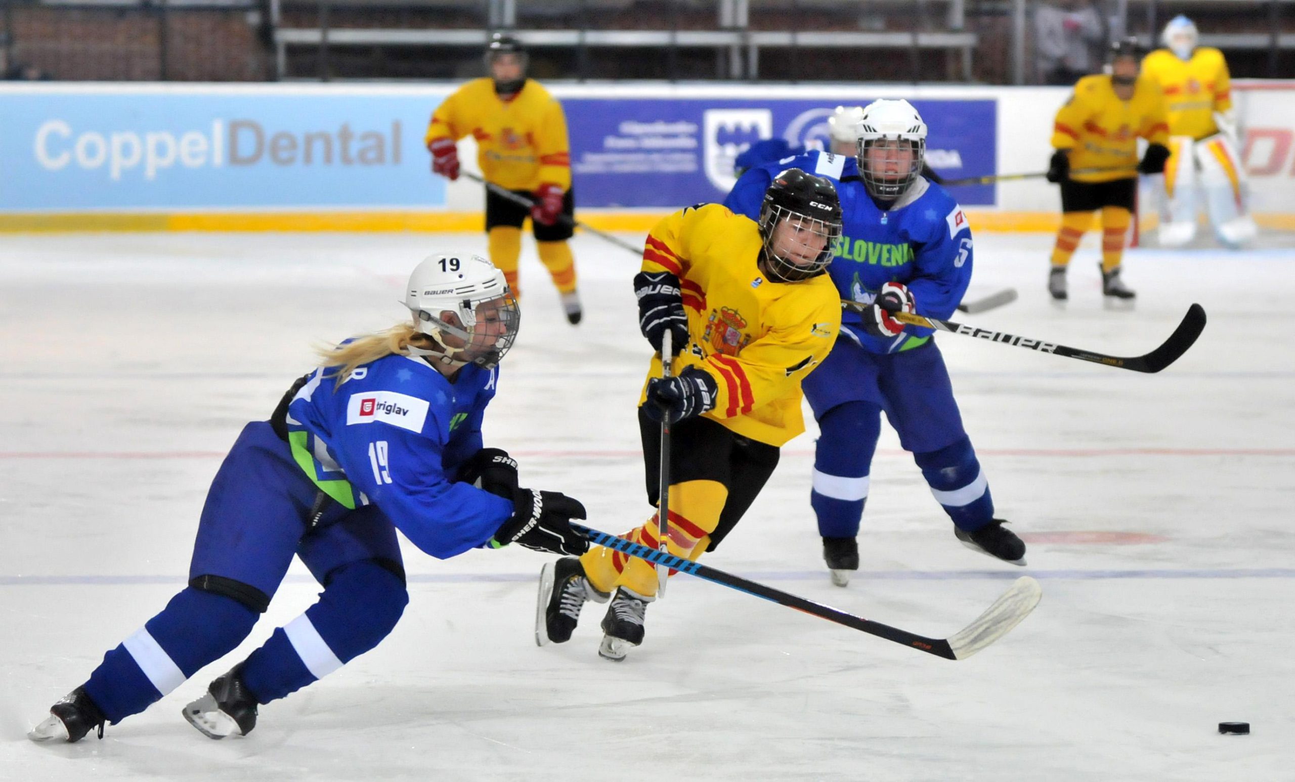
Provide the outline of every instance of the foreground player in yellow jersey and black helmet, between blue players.
<path id="1" fill-rule="evenodd" d="M 800 383 L 840 330 L 840 298 L 826 274 L 839 236 L 835 188 L 799 168 L 769 184 L 759 223 L 711 203 L 648 234 L 635 277 L 638 326 L 658 353 L 670 331 L 680 355 L 666 379 L 653 357 L 638 427 L 655 505 L 660 421 L 672 423 L 672 554 L 697 559 L 714 549 L 773 474 L 780 447 L 804 431 Z M 623 537 L 655 549 L 658 536 L 654 515 Z M 536 641 L 567 641 L 584 602 L 610 598 L 598 653 L 622 659 L 642 642 L 657 584 L 651 564 L 601 546 L 546 564 Z"/>

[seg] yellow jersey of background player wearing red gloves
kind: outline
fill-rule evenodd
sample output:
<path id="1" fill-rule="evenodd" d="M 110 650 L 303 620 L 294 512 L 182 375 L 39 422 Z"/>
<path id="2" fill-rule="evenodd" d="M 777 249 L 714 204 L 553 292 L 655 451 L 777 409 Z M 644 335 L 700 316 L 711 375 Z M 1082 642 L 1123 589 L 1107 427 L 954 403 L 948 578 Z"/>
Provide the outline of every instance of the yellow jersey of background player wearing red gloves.
<path id="1" fill-rule="evenodd" d="M 509 190 L 535 190 L 541 184 L 571 189 L 571 148 L 566 114 L 549 91 L 527 79 L 521 92 L 502 101 L 490 79 L 473 79 L 436 106 L 423 139 L 477 139 L 482 176 Z"/>

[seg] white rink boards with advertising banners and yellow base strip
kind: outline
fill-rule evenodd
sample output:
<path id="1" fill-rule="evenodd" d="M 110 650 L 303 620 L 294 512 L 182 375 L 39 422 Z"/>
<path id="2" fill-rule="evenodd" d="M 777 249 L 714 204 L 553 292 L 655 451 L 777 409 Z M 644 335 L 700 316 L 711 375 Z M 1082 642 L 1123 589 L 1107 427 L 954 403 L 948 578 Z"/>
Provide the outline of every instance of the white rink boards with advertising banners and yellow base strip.
<path id="1" fill-rule="evenodd" d="M 1260 223 L 1295 228 L 1295 82 L 1238 82 Z M 0 87 L 0 229 L 478 230 L 479 185 L 429 172 L 439 85 Z M 906 97 L 947 177 L 1041 171 L 1064 88 L 556 84 L 581 219 L 644 230 L 719 201 L 758 139 L 816 146 L 838 104 Z M 471 139 L 460 144 L 471 166 Z M 1052 230 L 1041 179 L 954 190 L 978 229 Z"/>

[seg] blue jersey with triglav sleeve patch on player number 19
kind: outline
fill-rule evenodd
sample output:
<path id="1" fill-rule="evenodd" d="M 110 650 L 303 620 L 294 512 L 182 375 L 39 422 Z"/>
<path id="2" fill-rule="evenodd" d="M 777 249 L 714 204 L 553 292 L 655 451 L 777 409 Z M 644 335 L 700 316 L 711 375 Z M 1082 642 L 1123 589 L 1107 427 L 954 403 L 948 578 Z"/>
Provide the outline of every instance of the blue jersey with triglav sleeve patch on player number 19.
<path id="1" fill-rule="evenodd" d="M 306 475 L 346 508 L 377 504 L 433 557 L 488 541 L 513 504 L 453 476 L 482 448 L 499 369 L 469 364 L 451 383 L 422 359 L 390 355 L 342 383 L 335 372 L 317 369 L 287 407 Z"/>

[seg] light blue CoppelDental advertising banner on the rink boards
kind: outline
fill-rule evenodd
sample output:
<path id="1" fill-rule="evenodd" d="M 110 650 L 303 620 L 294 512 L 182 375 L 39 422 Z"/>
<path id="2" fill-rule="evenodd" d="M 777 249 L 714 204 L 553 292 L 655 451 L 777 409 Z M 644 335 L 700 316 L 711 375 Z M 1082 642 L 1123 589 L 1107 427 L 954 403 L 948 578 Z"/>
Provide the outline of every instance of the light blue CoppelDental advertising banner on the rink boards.
<path id="1" fill-rule="evenodd" d="M 440 96 L 0 95 L 0 210 L 429 207 Z"/>

